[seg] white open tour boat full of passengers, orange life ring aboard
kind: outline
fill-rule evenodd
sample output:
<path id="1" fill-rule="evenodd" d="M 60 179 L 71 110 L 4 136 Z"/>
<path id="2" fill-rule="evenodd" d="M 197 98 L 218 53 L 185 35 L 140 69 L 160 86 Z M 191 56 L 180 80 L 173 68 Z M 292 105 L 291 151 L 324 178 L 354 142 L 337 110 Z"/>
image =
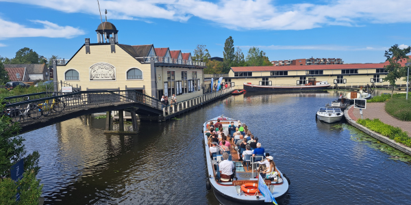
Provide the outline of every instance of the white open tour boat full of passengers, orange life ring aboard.
<path id="1" fill-rule="evenodd" d="M 233 148 L 233 145 L 229 148 L 229 153 L 231 160 L 235 163 L 235 170 L 234 170 L 234 179 L 232 181 L 223 182 L 220 180 L 216 180 L 216 173 L 219 172 L 216 169 L 219 169 L 217 166 L 220 161 L 222 161 L 222 156 L 217 154 L 216 156 L 210 155 L 210 149 L 208 146 L 208 137 L 205 134 L 207 129 L 207 124 L 210 122 L 214 122 L 214 124 L 220 120 L 220 123 L 223 124 L 223 131 L 228 135 L 228 126 L 231 122 L 234 122 L 234 125 L 238 126 L 238 121 L 232 118 L 227 118 L 221 115 L 221 117 L 213 118 L 212 120 L 208 120 L 203 124 L 203 137 L 204 137 L 204 147 L 206 150 L 206 161 L 207 161 L 207 175 L 208 180 L 206 184 L 206 188 L 208 190 L 212 189 L 214 191 L 214 195 L 216 196 L 217 200 L 221 204 L 264 204 L 265 197 L 260 193 L 258 190 L 258 173 L 254 169 L 254 166 L 251 167 L 243 166 L 242 162 L 238 159 L 238 154 L 236 150 Z M 232 142 L 230 142 L 232 143 Z M 262 146 L 264 147 L 264 145 Z M 220 148 L 220 147 L 219 147 Z M 273 150 L 274 152 L 275 150 Z M 227 151 L 228 152 L 228 151 Z M 274 159 L 275 161 L 275 159 Z M 253 158 L 251 157 L 251 164 L 253 162 Z M 275 180 L 265 180 L 264 182 L 269 187 L 269 191 L 272 193 L 275 200 L 281 200 L 284 198 L 283 196 L 288 191 L 288 186 L 290 184 L 290 180 L 288 180 L 286 174 L 279 172 L 277 166 L 275 167 L 275 171 L 278 173 L 279 177 L 275 178 Z M 250 191 L 251 190 L 251 191 Z M 249 192 L 256 192 L 256 193 L 249 193 Z M 269 203 L 273 204 L 273 203 Z"/>

